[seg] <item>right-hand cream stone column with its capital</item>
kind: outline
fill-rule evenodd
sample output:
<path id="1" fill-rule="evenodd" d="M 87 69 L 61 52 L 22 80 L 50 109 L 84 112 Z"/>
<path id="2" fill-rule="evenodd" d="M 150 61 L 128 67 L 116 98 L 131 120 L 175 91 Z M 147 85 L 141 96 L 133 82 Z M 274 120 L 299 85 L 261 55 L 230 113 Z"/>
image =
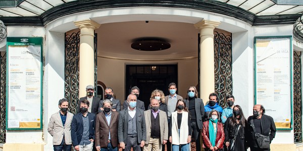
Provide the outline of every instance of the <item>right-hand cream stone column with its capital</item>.
<path id="1" fill-rule="evenodd" d="M 200 30 L 200 98 L 204 104 L 209 94 L 215 92 L 214 29 L 220 22 L 203 20 L 194 24 Z"/>

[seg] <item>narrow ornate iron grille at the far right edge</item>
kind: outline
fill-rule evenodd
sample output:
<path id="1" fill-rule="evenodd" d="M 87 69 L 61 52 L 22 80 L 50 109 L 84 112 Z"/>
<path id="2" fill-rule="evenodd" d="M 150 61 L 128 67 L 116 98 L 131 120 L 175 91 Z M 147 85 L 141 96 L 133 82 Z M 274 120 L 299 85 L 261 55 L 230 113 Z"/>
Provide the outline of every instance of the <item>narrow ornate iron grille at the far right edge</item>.
<path id="1" fill-rule="evenodd" d="M 294 143 L 302 142 L 301 52 L 293 51 L 293 130 Z"/>

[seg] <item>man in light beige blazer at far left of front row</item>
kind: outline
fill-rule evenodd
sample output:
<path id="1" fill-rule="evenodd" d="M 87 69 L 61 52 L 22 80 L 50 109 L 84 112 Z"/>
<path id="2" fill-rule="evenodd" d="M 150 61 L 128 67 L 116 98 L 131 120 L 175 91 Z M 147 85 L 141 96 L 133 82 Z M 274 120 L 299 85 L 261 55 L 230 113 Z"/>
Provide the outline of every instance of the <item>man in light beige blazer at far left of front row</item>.
<path id="1" fill-rule="evenodd" d="M 72 149 L 71 123 L 73 114 L 68 112 L 68 101 L 59 100 L 60 111 L 51 116 L 48 122 L 47 131 L 53 136 L 55 151 L 70 151 Z"/>

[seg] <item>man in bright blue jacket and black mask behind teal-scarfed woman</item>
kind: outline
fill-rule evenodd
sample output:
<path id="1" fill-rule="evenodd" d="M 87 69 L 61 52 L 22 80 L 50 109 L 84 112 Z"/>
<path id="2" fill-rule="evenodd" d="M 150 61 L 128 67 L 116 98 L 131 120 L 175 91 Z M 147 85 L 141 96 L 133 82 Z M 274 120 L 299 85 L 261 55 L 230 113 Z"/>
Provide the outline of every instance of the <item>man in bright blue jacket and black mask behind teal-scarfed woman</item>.
<path id="1" fill-rule="evenodd" d="M 218 120 L 220 120 L 220 117 L 221 117 L 221 114 L 223 112 L 223 109 L 221 106 L 219 106 L 218 104 L 218 95 L 216 93 L 211 93 L 210 96 L 209 96 L 209 103 L 204 107 L 205 109 L 205 113 L 204 113 L 204 121 L 208 121 L 209 120 L 209 115 L 210 115 L 210 112 L 215 109 L 219 112 L 219 117 L 218 117 Z"/>

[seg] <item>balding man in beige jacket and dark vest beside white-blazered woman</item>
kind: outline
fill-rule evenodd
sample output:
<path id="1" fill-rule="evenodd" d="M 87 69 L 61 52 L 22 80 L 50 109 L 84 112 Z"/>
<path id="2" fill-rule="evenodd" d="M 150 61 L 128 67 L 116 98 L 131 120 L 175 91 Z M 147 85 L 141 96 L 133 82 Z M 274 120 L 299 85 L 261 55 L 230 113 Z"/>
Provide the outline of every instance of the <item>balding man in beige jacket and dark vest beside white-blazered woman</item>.
<path id="1" fill-rule="evenodd" d="M 167 115 L 159 110 L 159 101 L 151 99 L 150 110 L 144 111 L 146 122 L 146 141 L 144 151 L 162 150 L 162 144 L 168 140 Z"/>

